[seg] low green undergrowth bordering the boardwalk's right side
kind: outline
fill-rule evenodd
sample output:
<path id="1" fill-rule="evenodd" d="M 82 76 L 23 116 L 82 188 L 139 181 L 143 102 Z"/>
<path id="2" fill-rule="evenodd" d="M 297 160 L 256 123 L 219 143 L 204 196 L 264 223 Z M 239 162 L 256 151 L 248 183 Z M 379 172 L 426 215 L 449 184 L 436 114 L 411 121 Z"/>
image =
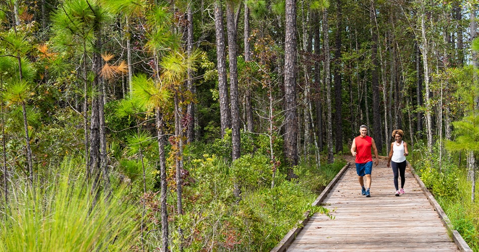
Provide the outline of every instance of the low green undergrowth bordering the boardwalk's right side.
<path id="1" fill-rule="evenodd" d="M 439 147 L 427 154 L 418 142 L 409 159 L 426 187 L 441 205 L 453 225 L 473 251 L 479 251 L 479 202 L 471 201 L 471 181 L 467 179 L 464 153 L 444 154 L 439 162 Z M 477 180 L 477 175 L 476 175 Z M 479 190 L 475 188 L 477 196 Z"/>

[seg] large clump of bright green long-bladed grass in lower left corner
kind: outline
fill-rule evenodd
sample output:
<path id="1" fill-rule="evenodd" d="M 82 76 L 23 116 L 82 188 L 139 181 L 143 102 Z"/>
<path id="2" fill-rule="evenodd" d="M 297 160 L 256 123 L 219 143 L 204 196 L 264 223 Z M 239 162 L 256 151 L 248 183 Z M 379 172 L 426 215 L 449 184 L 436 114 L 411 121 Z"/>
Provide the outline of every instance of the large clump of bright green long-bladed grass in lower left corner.
<path id="1" fill-rule="evenodd" d="M 63 174 L 35 190 L 13 185 L 7 218 L 2 218 L 0 251 L 121 251 L 134 245 L 138 228 L 133 209 L 113 193 L 92 208 L 83 177 L 71 177 L 75 164 L 66 160 Z"/>

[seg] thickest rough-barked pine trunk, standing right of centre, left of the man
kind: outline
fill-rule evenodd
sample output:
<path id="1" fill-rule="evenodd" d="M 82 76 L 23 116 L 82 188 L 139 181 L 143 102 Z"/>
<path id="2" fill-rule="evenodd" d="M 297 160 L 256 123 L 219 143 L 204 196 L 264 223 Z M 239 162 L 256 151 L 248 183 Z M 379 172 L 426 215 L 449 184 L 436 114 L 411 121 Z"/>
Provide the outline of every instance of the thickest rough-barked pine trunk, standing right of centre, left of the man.
<path id="1" fill-rule="evenodd" d="M 285 152 L 291 166 L 298 164 L 296 112 L 296 0 L 286 0 L 286 23 L 284 40 L 284 95 L 285 95 Z M 288 169 L 288 177 L 295 174 Z"/>

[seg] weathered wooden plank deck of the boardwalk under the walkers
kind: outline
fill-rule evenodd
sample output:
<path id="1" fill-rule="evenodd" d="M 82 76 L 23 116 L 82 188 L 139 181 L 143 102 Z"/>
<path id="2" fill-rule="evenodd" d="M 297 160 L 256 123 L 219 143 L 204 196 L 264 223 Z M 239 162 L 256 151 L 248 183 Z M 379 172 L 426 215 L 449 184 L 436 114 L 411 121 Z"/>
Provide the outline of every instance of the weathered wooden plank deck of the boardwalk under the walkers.
<path id="1" fill-rule="evenodd" d="M 292 242 L 273 251 L 464 250 L 450 237 L 434 204 L 428 200 L 429 192 L 423 192 L 422 182 L 416 181 L 409 168 L 406 193 L 396 197 L 392 170 L 381 159 L 378 166 L 373 166 L 371 198 L 366 198 L 361 195 L 354 161 L 348 161 L 351 165 L 320 200 L 334 219 L 324 214 L 313 215 L 296 237 L 289 239 Z"/>

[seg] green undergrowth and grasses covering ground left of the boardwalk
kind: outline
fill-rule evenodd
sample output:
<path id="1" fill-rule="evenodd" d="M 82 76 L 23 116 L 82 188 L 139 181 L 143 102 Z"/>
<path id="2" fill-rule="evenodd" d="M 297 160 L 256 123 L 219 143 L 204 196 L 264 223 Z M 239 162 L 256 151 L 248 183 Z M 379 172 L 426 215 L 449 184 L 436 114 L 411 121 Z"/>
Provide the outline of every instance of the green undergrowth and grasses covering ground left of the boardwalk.
<path id="1" fill-rule="evenodd" d="M 38 134 L 48 135 L 45 130 Z M 140 140 L 128 134 L 109 141 L 112 191 L 106 200 L 105 188 L 91 192 L 81 152 L 57 145 L 75 138 L 68 127 L 62 131 L 57 134 L 63 138 L 50 134 L 43 138 L 44 148 L 35 150 L 45 154 L 35 166 L 33 183 L 21 174 L 10 178 L 8 198 L 1 201 L 0 251 L 164 251 L 157 146 L 148 141 L 149 133 L 140 138 L 141 155 Z M 268 139 L 242 135 L 244 154 L 234 162 L 229 159 L 229 136 L 186 146 L 183 214 L 177 213 L 174 165 L 168 159 L 171 251 L 180 244 L 184 251 L 269 251 L 306 211 L 327 214 L 311 203 L 346 163 L 341 157 L 333 164 L 321 159 L 320 167 L 314 158 L 302 160 L 293 168 L 297 178 L 292 180 L 286 179 L 285 165 L 275 166 L 272 187 Z M 50 153 L 51 146 L 59 149 Z M 274 151 L 281 153 L 281 143 Z M 169 156 L 171 149 L 166 152 Z M 277 160 L 282 158 L 278 155 Z M 239 199 L 233 193 L 234 181 L 240 181 Z"/>

